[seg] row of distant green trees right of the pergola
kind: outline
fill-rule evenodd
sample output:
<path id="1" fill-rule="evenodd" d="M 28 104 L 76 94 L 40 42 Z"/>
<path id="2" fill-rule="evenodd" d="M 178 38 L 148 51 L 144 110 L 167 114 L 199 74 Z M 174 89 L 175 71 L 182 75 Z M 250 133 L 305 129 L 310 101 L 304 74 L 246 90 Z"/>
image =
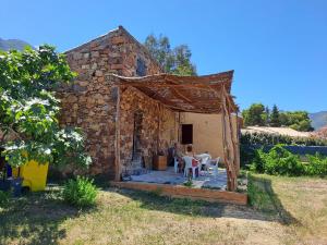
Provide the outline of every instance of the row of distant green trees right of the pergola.
<path id="1" fill-rule="evenodd" d="M 242 111 L 242 117 L 245 126 L 289 126 L 304 132 L 314 130 L 306 111 L 280 112 L 276 105 L 270 112 L 270 109 L 263 103 L 253 103 Z"/>

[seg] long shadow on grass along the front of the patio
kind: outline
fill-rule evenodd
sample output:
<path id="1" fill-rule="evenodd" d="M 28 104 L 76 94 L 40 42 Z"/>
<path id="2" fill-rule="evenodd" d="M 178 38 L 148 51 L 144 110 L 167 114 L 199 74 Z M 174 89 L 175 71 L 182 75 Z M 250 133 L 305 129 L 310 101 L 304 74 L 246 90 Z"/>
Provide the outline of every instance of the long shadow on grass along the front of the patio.
<path id="1" fill-rule="evenodd" d="M 160 196 L 156 192 L 130 191 L 124 188 L 110 188 L 109 192 L 118 192 L 135 201 L 140 207 L 149 210 L 166 211 L 177 215 L 208 218 L 235 218 L 262 221 L 279 221 L 274 213 L 250 206 L 238 206 L 222 203 L 208 203 L 203 200 L 191 200 L 187 198 L 170 198 Z"/>

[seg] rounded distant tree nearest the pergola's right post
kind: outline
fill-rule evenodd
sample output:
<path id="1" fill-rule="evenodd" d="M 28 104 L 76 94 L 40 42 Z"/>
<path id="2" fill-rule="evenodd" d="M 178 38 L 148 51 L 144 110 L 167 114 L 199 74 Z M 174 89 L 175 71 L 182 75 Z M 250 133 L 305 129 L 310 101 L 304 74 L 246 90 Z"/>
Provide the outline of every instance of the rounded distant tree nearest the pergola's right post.
<path id="1" fill-rule="evenodd" d="M 245 126 L 266 125 L 265 107 L 262 103 L 253 103 L 247 110 L 242 111 Z"/>

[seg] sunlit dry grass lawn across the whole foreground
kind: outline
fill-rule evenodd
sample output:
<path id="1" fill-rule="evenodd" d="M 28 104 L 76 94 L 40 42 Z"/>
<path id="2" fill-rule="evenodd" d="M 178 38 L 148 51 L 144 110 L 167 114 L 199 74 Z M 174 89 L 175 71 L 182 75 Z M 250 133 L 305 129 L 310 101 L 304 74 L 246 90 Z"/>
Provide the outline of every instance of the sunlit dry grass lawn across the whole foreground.
<path id="1" fill-rule="evenodd" d="M 252 207 L 104 189 L 77 210 L 58 188 L 0 208 L 0 244 L 327 244 L 327 180 L 253 174 Z"/>

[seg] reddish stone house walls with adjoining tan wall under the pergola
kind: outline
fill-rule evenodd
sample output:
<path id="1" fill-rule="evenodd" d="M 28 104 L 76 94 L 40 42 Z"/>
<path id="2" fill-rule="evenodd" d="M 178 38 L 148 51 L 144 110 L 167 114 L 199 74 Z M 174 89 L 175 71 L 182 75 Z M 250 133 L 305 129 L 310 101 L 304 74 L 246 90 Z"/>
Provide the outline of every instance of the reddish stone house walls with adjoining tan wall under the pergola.
<path id="1" fill-rule="evenodd" d="M 90 174 L 105 174 L 113 179 L 118 170 L 120 173 L 134 173 L 144 167 L 150 169 L 158 151 L 165 151 L 179 142 L 180 123 L 194 124 L 197 131 L 194 132 L 196 151 L 211 151 L 217 140 L 221 145 L 221 120 L 213 121 L 216 130 L 207 135 L 201 133 L 208 127 L 207 120 L 202 120 L 207 115 L 175 113 L 133 87 L 123 86 L 119 93 L 113 76 L 110 76 L 112 73 L 122 76 L 161 73 L 145 47 L 123 27 L 71 49 L 65 54 L 77 77 L 73 85 L 58 93 L 62 102 L 61 124 L 82 127 L 86 134 L 86 150 L 94 162 Z M 120 117 L 117 117 L 118 111 Z M 119 149 L 118 132 L 120 152 L 116 156 Z M 217 151 L 220 156 L 219 150 L 213 148 L 213 154 Z M 141 161 L 135 152 L 141 156 Z M 119 168 L 116 168 L 117 160 Z"/>

